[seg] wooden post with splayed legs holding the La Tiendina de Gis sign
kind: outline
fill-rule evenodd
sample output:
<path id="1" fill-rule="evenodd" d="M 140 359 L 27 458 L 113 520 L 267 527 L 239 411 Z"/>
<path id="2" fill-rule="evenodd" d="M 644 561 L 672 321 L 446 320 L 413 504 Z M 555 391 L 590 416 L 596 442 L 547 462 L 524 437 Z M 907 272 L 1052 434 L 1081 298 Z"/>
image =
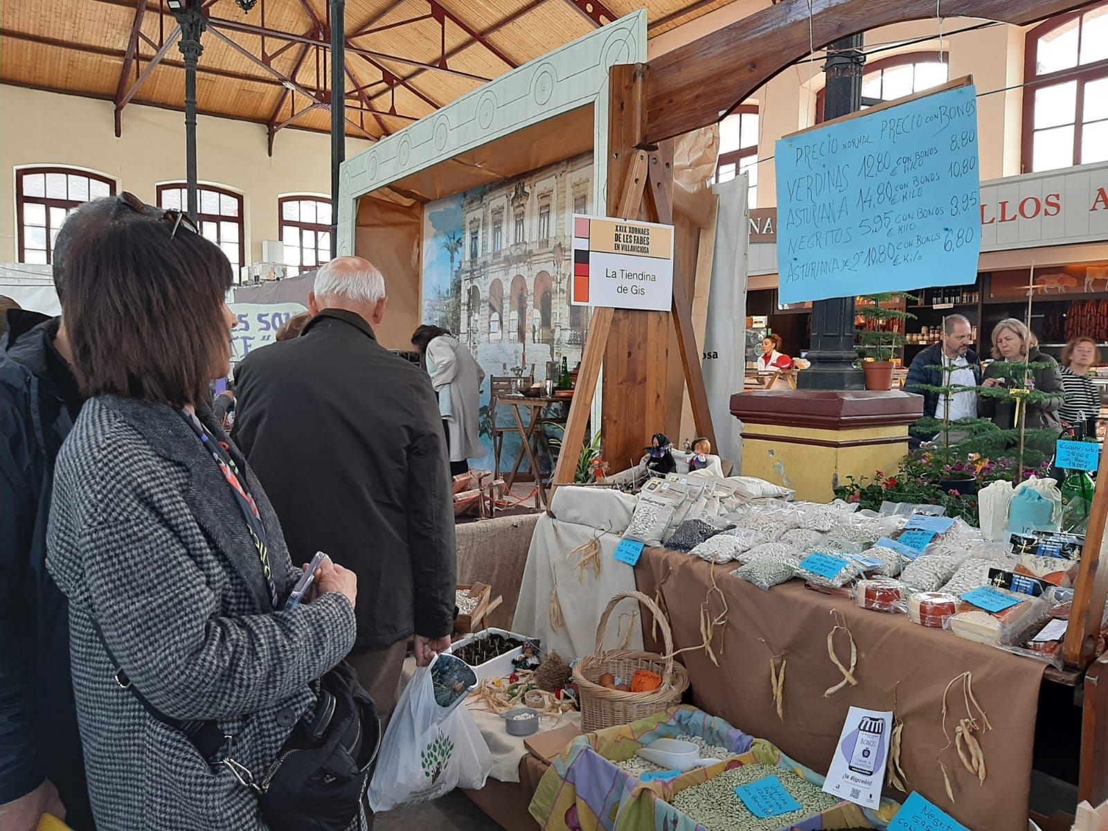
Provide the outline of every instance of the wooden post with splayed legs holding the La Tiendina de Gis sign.
<path id="1" fill-rule="evenodd" d="M 613 66 L 611 70 L 612 96 L 608 107 L 608 216 L 623 219 L 643 219 L 646 222 L 671 224 L 673 207 L 673 142 L 660 145 L 649 145 L 646 135 L 646 75 L 647 64 L 627 64 Z M 562 452 L 554 472 L 553 484 L 570 484 L 574 480 L 577 468 L 577 454 L 585 440 L 585 427 L 588 423 L 596 393 L 596 381 L 604 362 L 604 355 L 613 334 L 613 322 L 617 329 L 623 326 L 635 326 L 644 320 L 657 329 L 658 318 L 671 318 L 677 331 L 677 345 L 681 356 L 681 367 L 685 383 L 688 387 L 693 404 L 693 420 L 697 433 L 718 447 L 716 433 L 708 412 L 708 393 L 704 386 L 704 373 L 700 370 L 700 350 L 693 334 L 693 312 L 688 291 L 685 287 L 685 275 L 674 273 L 674 299 L 671 310 L 666 312 L 634 311 L 628 309 L 597 308 L 593 311 L 589 325 L 588 340 L 581 361 L 581 372 L 577 376 L 577 387 L 570 407 L 570 418 L 565 428 Z M 668 326 L 668 321 L 660 321 Z M 624 332 L 626 335 L 626 332 Z M 659 337 L 665 335 L 665 337 Z M 644 353 L 635 356 L 646 362 L 648 375 L 664 372 L 666 363 L 665 345 L 668 332 L 654 331 L 647 342 L 637 347 Z M 652 379 L 648 393 L 664 384 Z M 664 397 L 652 394 L 646 423 L 660 424 L 665 421 Z M 618 414 L 614 414 L 618 418 Z M 605 419 L 607 421 L 607 417 Z M 643 440 L 645 441 L 645 434 Z M 609 460 L 611 461 L 611 460 Z M 616 463 L 622 463 L 617 459 Z"/>

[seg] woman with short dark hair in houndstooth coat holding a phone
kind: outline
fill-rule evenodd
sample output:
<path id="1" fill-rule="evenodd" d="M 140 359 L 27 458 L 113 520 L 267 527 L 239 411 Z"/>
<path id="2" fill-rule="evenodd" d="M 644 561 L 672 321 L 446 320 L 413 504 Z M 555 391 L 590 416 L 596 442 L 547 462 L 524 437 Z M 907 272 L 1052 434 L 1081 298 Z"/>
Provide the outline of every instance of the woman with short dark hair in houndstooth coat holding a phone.
<path id="1" fill-rule="evenodd" d="M 157 212 L 127 197 L 119 209 Z M 70 601 L 96 824 L 259 831 L 244 781 L 274 769 L 312 679 L 353 645 L 356 578 L 325 562 L 315 599 L 277 611 L 300 570 L 204 406 L 228 371 L 230 265 L 156 215 L 70 253 L 63 314 L 90 399 L 58 459 L 48 567 Z"/>

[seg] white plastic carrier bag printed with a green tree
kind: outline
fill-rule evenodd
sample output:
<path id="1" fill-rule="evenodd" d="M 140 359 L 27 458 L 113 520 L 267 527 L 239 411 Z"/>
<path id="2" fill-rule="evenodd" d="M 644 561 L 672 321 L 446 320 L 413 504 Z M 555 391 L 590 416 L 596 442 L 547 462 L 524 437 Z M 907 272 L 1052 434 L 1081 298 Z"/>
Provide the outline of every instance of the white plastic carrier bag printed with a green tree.
<path id="1" fill-rule="evenodd" d="M 440 707 L 431 667 L 421 667 L 384 732 L 369 804 L 377 813 L 438 799 L 454 788 L 480 790 L 490 770 L 492 755 L 473 716 L 464 705 Z"/>

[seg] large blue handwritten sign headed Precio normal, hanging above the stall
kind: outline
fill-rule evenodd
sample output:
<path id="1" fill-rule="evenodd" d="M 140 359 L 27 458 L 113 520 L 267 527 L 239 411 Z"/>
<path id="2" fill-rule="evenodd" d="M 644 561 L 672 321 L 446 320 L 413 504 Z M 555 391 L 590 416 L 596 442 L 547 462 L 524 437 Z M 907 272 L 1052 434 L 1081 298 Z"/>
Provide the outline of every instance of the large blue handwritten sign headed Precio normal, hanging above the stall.
<path id="1" fill-rule="evenodd" d="M 977 273 L 976 94 L 962 86 L 778 141 L 780 302 Z"/>

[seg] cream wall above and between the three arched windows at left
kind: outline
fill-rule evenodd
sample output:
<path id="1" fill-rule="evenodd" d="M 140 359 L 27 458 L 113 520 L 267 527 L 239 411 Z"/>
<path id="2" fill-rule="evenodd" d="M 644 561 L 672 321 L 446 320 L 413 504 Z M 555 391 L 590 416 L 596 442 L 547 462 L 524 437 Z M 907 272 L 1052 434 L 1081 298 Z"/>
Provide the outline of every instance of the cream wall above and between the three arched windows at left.
<path id="1" fill-rule="evenodd" d="M 84 167 L 117 179 L 120 189 L 148 203 L 158 183 L 184 179 L 183 113 L 130 104 L 116 138 L 113 112 L 110 101 L 0 84 L 0 263 L 16 260 L 16 167 Z M 331 191 L 326 134 L 283 130 L 270 158 L 261 124 L 202 115 L 196 133 L 201 182 L 245 197 L 248 261 L 261 259 L 263 239 L 279 238 L 278 196 Z M 349 138 L 347 156 L 369 145 Z"/>

